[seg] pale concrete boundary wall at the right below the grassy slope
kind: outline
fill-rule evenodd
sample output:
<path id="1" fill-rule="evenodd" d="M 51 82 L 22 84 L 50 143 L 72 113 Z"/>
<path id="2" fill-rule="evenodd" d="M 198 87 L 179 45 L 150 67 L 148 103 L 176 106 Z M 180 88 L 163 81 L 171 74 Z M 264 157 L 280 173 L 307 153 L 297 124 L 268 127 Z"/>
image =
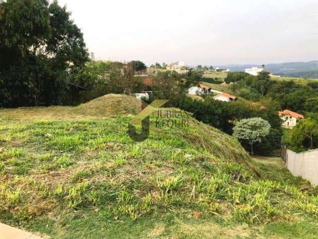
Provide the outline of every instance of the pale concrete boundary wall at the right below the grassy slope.
<path id="1" fill-rule="evenodd" d="M 318 149 L 295 153 L 286 150 L 286 166 L 294 176 L 301 176 L 318 185 Z"/>

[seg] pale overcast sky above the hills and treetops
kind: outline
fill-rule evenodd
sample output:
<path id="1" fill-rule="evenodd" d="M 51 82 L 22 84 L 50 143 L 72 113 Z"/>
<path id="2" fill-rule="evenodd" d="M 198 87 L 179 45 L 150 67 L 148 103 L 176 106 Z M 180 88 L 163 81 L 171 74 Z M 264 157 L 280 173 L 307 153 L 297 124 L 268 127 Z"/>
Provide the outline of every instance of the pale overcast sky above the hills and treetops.
<path id="1" fill-rule="evenodd" d="M 58 0 L 96 60 L 318 60 L 318 0 Z"/>

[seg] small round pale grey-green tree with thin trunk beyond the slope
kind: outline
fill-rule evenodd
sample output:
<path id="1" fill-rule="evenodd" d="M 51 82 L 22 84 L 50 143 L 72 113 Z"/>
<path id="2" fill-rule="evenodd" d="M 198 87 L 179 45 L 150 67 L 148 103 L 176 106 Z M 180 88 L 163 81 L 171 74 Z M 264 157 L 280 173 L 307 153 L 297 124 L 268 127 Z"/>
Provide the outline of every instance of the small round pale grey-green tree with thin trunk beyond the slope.
<path id="1" fill-rule="evenodd" d="M 261 118 L 241 119 L 233 128 L 233 136 L 239 140 L 246 140 L 253 155 L 253 144 L 260 143 L 262 138 L 269 134 L 270 128 L 269 122 Z"/>

